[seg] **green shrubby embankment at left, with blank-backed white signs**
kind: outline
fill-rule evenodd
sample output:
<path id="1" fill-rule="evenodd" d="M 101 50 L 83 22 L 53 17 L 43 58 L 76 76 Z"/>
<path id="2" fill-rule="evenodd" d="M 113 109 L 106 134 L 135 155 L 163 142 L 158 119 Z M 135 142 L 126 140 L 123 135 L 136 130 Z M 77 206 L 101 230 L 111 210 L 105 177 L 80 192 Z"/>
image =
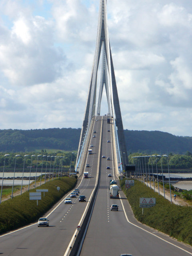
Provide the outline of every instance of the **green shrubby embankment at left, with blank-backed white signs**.
<path id="1" fill-rule="evenodd" d="M 29 200 L 29 192 L 36 192 L 36 189 L 31 189 L 21 196 L 15 196 L 13 199 L 2 202 L 0 204 L 0 234 L 36 222 L 62 196 L 72 190 L 76 182 L 76 178 L 62 177 L 38 186 L 38 189 L 48 189 L 48 192 L 45 192 L 45 197 L 42 193 L 42 199 L 38 200 L 38 206 L 36 200 Z M 59 191 L 57 186 L 60 187 Z"/>

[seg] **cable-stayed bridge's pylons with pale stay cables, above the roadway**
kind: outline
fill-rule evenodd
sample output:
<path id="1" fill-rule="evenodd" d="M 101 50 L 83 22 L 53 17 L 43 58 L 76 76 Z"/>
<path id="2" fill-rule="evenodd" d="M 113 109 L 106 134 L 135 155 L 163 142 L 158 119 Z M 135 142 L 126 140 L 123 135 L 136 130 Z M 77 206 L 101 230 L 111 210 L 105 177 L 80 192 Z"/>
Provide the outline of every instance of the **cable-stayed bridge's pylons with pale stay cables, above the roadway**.
<path id="1" fill-rule="evenodd" d="M 98 66 L 100 62 L 100 81 L 98 82 Z M 100 1 L 96 49 L 78 147 L 76 171 L 82 169 L 82 159 L 84 159 L 84 155 L 86 154 L 90 131 L 94 126 L 94 122 L 98 120 L 97 117 L 100 116 L 103 88 L 106 90 L 106 101 L 108 104 L 107 117 L 108 120 L 110 119 L 108 122 L 112 123 L 112 142 L 115 145 L 114 150 L 118 165 L 118 172 L 121 173 L 122 170 L 126 170 L 128 157 L 108 35 L 106 0 Z"/>

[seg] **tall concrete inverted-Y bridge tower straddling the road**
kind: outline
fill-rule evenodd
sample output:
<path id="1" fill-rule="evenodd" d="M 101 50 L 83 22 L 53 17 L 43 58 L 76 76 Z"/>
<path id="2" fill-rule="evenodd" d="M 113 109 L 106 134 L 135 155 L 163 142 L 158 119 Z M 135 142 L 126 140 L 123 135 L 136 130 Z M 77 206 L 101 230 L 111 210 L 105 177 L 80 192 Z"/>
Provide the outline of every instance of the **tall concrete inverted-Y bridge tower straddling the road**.
<path id="1" fill-rule="evenodd" d="M 80 157 L 82 144 L 84 142 L 84 137 L 86 132 L 88 132 L 91 120 L 94 116 L 100 114 L 100 104 L 102 98 L 102 92 L 105 85 L 107 103 L 108 103 L 108 113 L 114 118 L 114 122 L 117 128 L 117 139 L 120 147 L 121 157 L 123 166 L 128 164 L 124 130 L 122 124 L 121 110 L 119 105 L 119 98 L 116 86 L 116 79 L 114 73 L 114 66 L 112 61 L 112 54 L 108 36 L 108 24 L 107 24 L 107 0 L 100 0 L 99 8 L 99 18 L 98 18 L 98 30 L 96 38 L 96 49 L 94 55 L 94 62 L 91 72 L 90 85 L 87 97 L 86 110 L 84 114 L 84 121 L 82 125 L 80 142 L 78 148 L 77 162 Z M 102 62 L 101 62 L 101 75 L 100 83 L 98 86 L 97 93 L 97 74 L 98 66 L 100 61 L 100 55 L 102 52 Z M 77 165 L 76 162 L 76 165 Z"/>

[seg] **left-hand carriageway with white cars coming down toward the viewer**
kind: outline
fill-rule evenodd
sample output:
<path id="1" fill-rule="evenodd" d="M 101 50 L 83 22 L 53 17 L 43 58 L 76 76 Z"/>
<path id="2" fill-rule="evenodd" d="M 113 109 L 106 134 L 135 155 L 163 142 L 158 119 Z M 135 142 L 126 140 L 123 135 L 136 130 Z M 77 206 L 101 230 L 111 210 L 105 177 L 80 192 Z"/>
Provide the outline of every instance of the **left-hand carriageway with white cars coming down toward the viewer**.
<path id="1" fill-rule="evenodd" d="M 101 120 L 94 122 L 92 130 L 96 130 L 96 138 L 91 135 L 89 141 L 89 145 L 94 145 L 93 154 L 86 154 L 84 163 L 84 165 L 90 164 L 86 171 L 89 172 L 91 178 L 82 178 L 78 181 L 78 188 L 81 194 L 86 196 L 86 201 L 89 200 L 96 184 L 101 124 Z M 70 197 L 70 193 L 64 198 L 66 197 Z M 35 223 L 16 232 L 0 236 L 0 254 L 4 256 L 63 256 L 88 204 L 88 202 L 78 202 L 78 198 L 72 199 L 73 204 L 64 204 L 64 198 L 57 204 L 57 208 L 54 206 L 44 216 L 48 216 L 49 227 L 38 228 Z"/>

